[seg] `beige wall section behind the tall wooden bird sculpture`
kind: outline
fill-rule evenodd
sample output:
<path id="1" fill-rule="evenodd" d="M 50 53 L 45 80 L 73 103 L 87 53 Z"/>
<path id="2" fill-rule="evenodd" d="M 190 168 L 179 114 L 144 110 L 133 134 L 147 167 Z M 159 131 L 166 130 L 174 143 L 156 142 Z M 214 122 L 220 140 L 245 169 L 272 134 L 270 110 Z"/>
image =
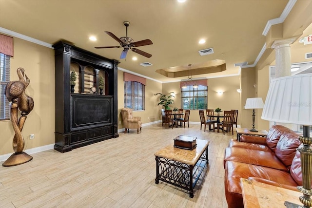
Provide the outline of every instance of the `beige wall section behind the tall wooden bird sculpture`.
<path id="1" fill-rule="evenodd" d="M 16 70 L 22 67 L 30 79 L 26 95 L 34 99 L 34 109 L 28 114 L 22 134 L 25 149 L 55 143 L 55 63 L 54 50 L 19 38 L 14 38 L 11 58 L 11 80 L 18 80 Z M 19 113 L 20 116 L 20 113 Z M 0 121 L 0 155 L 13 152 L 14 130 L 11 122 Z M 35 134 L 30 140 L 29 135 Z"/>

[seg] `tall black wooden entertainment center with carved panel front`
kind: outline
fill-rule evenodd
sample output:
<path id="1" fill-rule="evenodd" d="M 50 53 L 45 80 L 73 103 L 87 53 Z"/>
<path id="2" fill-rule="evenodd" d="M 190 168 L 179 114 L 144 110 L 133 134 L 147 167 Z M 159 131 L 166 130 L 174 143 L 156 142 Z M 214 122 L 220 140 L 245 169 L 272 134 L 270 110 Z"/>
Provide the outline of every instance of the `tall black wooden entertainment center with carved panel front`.
<path id="1" fill-rule="evenodd" d="M 55 145 L 60 152 L 118 137 L 117 65 L 119 61 L 64 41 L 55 49 Z M 71 93 L 70 73 L 77 68 L 78 92 Z M 99 77 L 104 76 L 104 95 Z M 97 92 L 90 93 L 90 86 Z"/>

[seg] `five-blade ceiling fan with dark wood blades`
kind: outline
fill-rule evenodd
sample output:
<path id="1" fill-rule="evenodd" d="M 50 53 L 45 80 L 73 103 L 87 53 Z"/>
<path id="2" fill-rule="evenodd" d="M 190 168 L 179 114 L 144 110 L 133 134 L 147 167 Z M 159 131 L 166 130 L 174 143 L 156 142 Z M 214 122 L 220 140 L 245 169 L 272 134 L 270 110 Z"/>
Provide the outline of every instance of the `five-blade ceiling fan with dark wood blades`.
<path id="1" fill-rule="evenodd" d="M 107 35 L 109 35 L 110 37 L 114 38 L 117 42 L 119 42 L 120 46 L 100 46 L 100 47 L 95 47 L 95 48 L 121 48 L 123 47 L 123 51 L 121 52 L 120 59 L 126 58 L 129 49 L 131 49 L 133 52 L 139 55 L 142 55 L 144 57 L 148 57 L 148 58 L 152 57 L 151 54 L 138 50 L 137 48 L 134 48 L 134 47 L 139 47 L 139 46 L 144 46 L 144 45 L 151 45 L 153 44 L 152 40 L 145 39 L 145 40 L 134 42 L 132 38 L 128 37 L 128 27 L 130 25 L 130 22 L 124 21 L 123 24 L 126 26 L 126 37 L 117 38 L 117 36 L 115 36 L 113 33 L 105 31 Z"/>

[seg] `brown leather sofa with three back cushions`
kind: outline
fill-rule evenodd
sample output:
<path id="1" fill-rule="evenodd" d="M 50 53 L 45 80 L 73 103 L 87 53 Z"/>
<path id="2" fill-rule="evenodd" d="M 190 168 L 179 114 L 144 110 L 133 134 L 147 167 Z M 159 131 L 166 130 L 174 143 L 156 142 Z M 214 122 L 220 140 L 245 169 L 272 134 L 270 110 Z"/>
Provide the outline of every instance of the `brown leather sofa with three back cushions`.
<path id="1" fill-rule="evenodd" d="M 243 208 L 240 178 L 287 189 L 302 186 L 298 133 L 275 125 L 267 137 L 242 135 L 224 155 L 224 186 L 229 208 Z"/>

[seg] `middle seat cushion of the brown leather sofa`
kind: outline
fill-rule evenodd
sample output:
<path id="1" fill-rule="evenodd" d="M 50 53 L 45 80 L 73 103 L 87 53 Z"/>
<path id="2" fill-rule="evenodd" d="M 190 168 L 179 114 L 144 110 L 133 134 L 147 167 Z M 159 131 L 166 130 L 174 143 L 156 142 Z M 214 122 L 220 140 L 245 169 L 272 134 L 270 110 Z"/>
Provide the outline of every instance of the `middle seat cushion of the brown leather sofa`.
<path id="1" fill-rule="evenodd" d="M 289 171 L 289 169 L 272 153 L 268 151 L 249 150 L 238 147 L 228 147 L 224 153 L 224 165 L 227 160 Z"/>

